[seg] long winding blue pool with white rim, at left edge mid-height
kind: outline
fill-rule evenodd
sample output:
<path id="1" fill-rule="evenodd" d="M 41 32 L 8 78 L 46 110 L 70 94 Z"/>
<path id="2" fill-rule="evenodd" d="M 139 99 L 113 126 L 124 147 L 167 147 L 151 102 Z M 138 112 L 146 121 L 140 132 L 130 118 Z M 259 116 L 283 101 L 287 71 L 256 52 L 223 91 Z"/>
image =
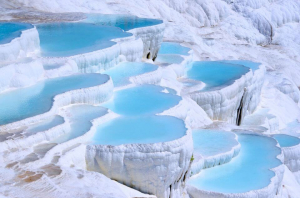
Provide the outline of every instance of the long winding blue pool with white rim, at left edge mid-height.
<path id="1" fill-rule="evenodd" d="M 113 83 L 109 76 L 102 74 L 90 74 L 91 78 L 89 78 L 89 80 L 84 80 L 85 75 L 89 74 L 45 80 L 37 83 L 34 86 L 8 91 L 4 94 L 1 94 L 1 100 L 3 102 L 6 101 L 5 103 L 8 104 L 2 107 L 3 110 L 1 113 L 6 114 L 6 112 L 11 112 L 9 114 L 10 116 L 1 116 L 0 131 L 10 131 L 24 127 L 28 124 L 40 122 L 57 114 L 58 108 L 62 106 L 75 103 L 98 104 L 107 101 L 112 96 Z M 78 83 L 80 79 L 83 81 Z M 92 79 L 95 81 L 92 82 Z M 59 82 L 64 81 L 66 82 L 66 85 L 68 85 L 68 82 L 70 84 L 66 87 L 56 86 L 59 84 Z M 75 90 L 72 90 L 72 87 L 74 87 Z M 36 92 L 39 92 L 39 94 L 35 95 Z M 19 94 L 24 95 L 24 98 L 21 101 L 17 101 L 18 97 L 16 96 Z M 13 102 L 14 100 L 16 100 L 15 103 Z M 41 100 L 43 100 L 44 103 L 41 104 Z M 15 109 L 14 105 L 18 105 L 22 102 L 28 103 L 29 105 L 21 105 L 22 108 L 20 108 L 20 110 Z M 39 105 L 37 105 L 35 102 L 39 103 Z M 35 107 L 35 105 L 37 105 L 37 107 Z M 43 105 L 44 107 L 42 107 Z M 33 109 L 28 111 L 27 108 L 30 108 L 30 106 L 32 106 Z"/>

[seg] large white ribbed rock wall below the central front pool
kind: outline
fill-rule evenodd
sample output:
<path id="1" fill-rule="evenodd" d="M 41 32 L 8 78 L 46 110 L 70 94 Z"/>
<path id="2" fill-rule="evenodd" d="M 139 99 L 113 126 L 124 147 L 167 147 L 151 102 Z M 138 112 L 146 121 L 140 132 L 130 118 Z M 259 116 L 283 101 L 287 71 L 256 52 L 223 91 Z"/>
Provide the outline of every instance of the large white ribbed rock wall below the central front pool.
<path id="1" fill-rule="evenodd" d="M 87 145 L 87 169 L 158 198 L 182 197 L 193 150 L 191 132 L 154 144 Z"/>

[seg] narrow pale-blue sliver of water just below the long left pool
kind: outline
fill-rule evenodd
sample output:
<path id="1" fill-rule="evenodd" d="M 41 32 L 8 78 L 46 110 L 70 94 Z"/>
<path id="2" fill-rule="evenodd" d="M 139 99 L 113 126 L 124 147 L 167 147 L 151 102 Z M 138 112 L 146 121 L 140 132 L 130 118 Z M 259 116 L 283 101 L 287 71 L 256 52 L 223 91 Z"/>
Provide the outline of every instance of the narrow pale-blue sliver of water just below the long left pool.
<path id="1" fill-rule="evenodd" d="M 26 129 L 25 132 L 26 134 L 32 135 L 41 131 L 47 131 L 53 127 L 63 124 L 64 122 L 65 120 L 63 117 L 56 115 L 48 120 L 45 120 L 43 122 L 28 127 L 28 129 Z"/>

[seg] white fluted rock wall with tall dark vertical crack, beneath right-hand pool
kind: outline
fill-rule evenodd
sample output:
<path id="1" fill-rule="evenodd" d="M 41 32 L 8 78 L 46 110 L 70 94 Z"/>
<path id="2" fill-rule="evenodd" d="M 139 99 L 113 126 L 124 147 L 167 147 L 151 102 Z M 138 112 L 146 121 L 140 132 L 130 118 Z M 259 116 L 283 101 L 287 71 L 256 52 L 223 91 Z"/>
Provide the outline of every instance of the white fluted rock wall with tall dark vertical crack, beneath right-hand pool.
<path id="1" fill-rule="evenodd" d="M 187 93 L 212 120 L 240 125 L 245 115 L 253 113 L 260 102 L 265 66 L 250 70 L 233 84 L 219 90 Z"/>

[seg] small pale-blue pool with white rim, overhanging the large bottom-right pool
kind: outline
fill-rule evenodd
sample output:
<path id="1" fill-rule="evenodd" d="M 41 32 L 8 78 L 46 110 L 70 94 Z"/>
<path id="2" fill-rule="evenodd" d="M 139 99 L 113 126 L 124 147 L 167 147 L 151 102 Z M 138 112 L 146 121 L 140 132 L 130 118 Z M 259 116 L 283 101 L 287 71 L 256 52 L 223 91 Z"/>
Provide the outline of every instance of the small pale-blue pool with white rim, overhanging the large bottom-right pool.
<path id="1" fill-rule="evenodd" d="M 202 169 L 228 163 L 241 149 L 238 136 L 233 132 L 214 129 L 193 131 L 194 152 L 191 175 Z"/>

